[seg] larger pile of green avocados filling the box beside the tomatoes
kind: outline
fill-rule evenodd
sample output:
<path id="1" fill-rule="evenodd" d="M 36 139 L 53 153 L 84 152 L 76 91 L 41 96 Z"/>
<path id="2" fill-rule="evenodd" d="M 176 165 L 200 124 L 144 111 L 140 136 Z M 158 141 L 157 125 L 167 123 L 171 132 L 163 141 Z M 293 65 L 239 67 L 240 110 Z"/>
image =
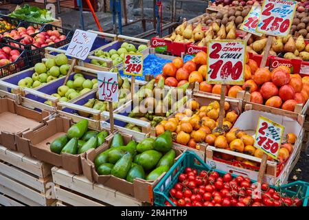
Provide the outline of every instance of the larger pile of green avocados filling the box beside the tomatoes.
<path id="1" fill-rule="evenodd" d="M 131 140 L 126 145 L 122 135 L 116 133 L 110 148 L 95 157 L 94 164 L 99 175 L 114 175 L 133 182 L 135 178 L 156 180 L 170 169 L 175 157 L 170 131 L 138 144 Z"/>

